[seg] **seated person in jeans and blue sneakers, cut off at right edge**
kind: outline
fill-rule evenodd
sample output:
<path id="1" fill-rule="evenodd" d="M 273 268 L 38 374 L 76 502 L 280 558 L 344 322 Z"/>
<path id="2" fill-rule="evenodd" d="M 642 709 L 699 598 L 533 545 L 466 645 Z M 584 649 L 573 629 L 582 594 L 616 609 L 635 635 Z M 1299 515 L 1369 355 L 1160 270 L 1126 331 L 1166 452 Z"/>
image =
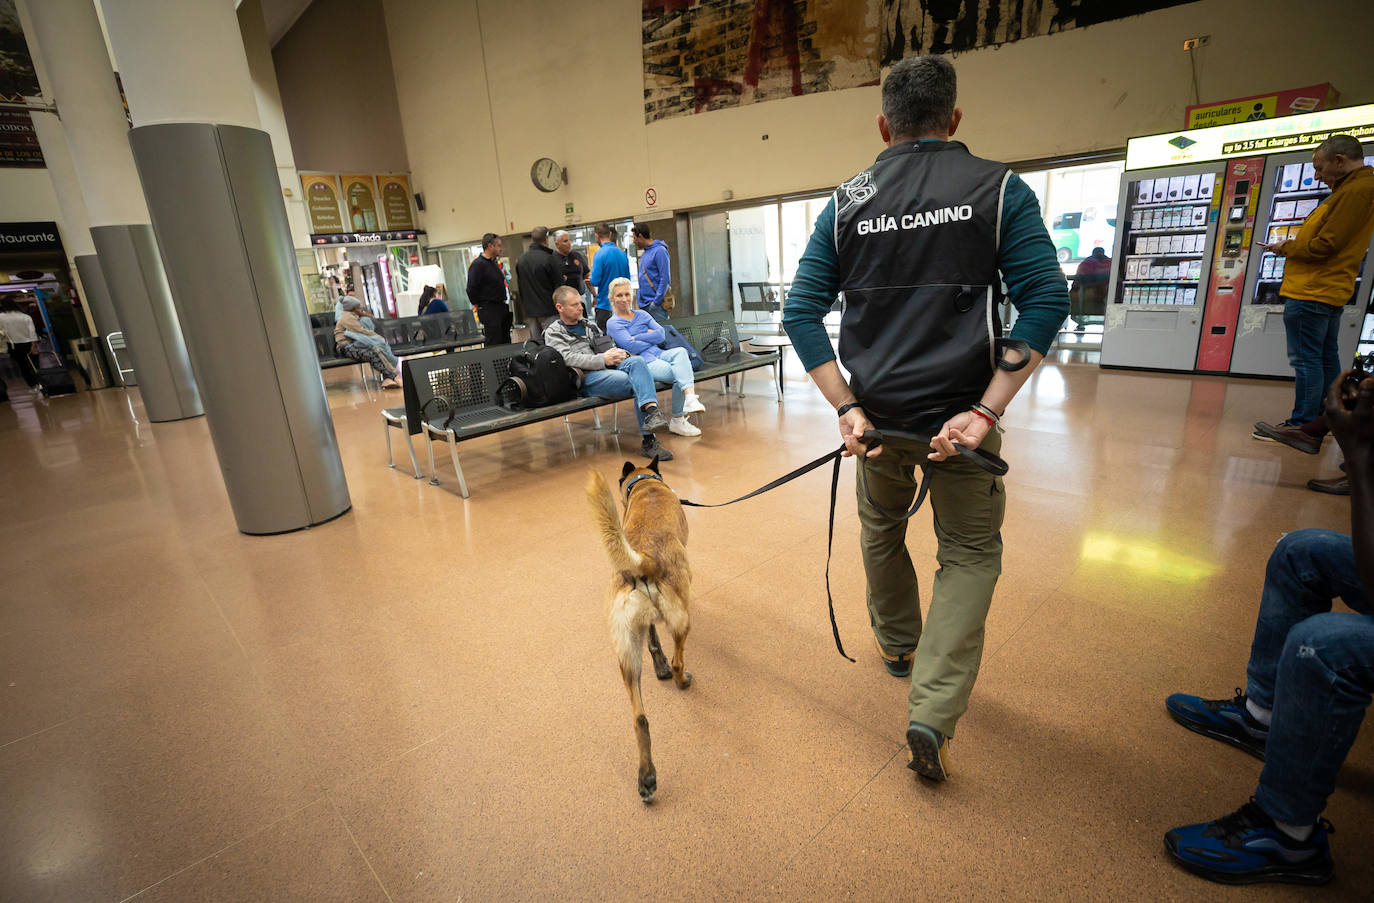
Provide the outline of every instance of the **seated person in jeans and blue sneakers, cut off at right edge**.
<path id="1" fill-rule="evenodd" d="M 1191 731 L 1264 761 L 1254 796 L 1212 822 L 1175 827 L 1169 854 L 1224 884 L 1331 878 L 1331 823 L 1322 818 L 1336 775 L 1374 693 L 1374 379 L 1342 390 L 1326 412 L 1351 478 L 1352 533 L 1289 533 L 1270 555 L 1246 689 L 1230 700 L 1175 694 L 1165 705 Z M 1333 612 L 1340 598 L 1351 612 Z"/>

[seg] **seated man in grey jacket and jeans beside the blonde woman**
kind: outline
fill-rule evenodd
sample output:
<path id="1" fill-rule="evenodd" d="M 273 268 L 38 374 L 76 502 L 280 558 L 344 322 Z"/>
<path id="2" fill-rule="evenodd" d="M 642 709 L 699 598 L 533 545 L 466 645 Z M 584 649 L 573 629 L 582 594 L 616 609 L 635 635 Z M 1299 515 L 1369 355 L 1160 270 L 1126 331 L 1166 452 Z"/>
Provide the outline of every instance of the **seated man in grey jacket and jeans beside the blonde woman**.
<path id="1" fill-rule="evenodd" d="M 555 289 L 554 309 L 558 319 L 544 330 L 544 344 L 562 355 L 569 367 L 581 371 L 583 394 L 603 399 L 633 396 L 635 418 L 643 434 L 640 452 L 644 458 L 672 460 L 673 454 L 654 436 L 654 430 L 668 425 L 668 418 L 658 410 L 658 388 L 644 359 L 616 348 L 595 323 L 583 317 L 583 296 L 577 294 L 577 289 Z"/>

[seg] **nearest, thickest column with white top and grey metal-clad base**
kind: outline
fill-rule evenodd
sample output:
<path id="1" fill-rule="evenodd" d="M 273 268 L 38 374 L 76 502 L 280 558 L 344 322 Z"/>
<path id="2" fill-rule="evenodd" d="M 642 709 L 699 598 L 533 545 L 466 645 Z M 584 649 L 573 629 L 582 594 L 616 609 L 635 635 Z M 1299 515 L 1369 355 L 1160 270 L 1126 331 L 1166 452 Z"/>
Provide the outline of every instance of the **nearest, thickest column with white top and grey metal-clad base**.
<path id="1" fill-rule="evenodd" d="M 102 8 L 234 517 L 245 533 L 322 524 L 350 500 L 234 3 Z"/>

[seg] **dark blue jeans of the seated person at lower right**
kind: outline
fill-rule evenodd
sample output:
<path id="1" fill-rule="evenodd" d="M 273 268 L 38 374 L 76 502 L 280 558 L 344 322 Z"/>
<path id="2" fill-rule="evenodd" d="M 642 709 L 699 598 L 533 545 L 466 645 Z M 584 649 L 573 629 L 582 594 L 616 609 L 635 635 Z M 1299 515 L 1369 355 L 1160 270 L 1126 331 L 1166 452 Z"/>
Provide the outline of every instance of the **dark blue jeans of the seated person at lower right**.
<path id="1" fill-rule="evenodd" d="M 1331 612 L 1340 597 L 1355 613 Z M 1281 822 L 1312 825 L 1374 691 L 1374 612 L 1345 533 L 1297 531 L 1264 572 L 1246 693 L 1272 709 L 1254 801 Z"/>

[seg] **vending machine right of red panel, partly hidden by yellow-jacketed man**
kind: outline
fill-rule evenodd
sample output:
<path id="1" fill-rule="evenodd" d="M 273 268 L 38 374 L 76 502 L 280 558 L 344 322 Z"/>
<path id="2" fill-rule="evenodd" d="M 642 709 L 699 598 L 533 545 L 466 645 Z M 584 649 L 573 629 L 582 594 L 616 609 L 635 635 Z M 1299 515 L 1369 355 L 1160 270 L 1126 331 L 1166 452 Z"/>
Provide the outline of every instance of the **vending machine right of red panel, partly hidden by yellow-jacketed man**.
<path id="1" fill-rule="evenodd" d="M 1374 146 L 1364 146 L 1364 162 L 1374 165 Z M 1312 153 L 1275 154 L 1268 158 L 1264 190 L 1260 194 L 1260 220 L 1256 241 L 1282 242 L 1297 236 L 1297 230 L 1331 190 L 1316 180 Z M 1283 331 L 1283 302 L 1279 286 L 1283 283 L 1285 260 L 1261 247 L 1252 247 L 1256 265 L 1245 282 L 1245 301 L 1235 335 L 1235 353 L 1230 371 L 1253 377 L 1290 377 L 1287 363 L 1287 335 Z M 1351 304 L 1341 316 L 1341 360 L 1349 361 L 1356 353 L 1370 301 L 1369 253 L 1355 282 Z"/>

